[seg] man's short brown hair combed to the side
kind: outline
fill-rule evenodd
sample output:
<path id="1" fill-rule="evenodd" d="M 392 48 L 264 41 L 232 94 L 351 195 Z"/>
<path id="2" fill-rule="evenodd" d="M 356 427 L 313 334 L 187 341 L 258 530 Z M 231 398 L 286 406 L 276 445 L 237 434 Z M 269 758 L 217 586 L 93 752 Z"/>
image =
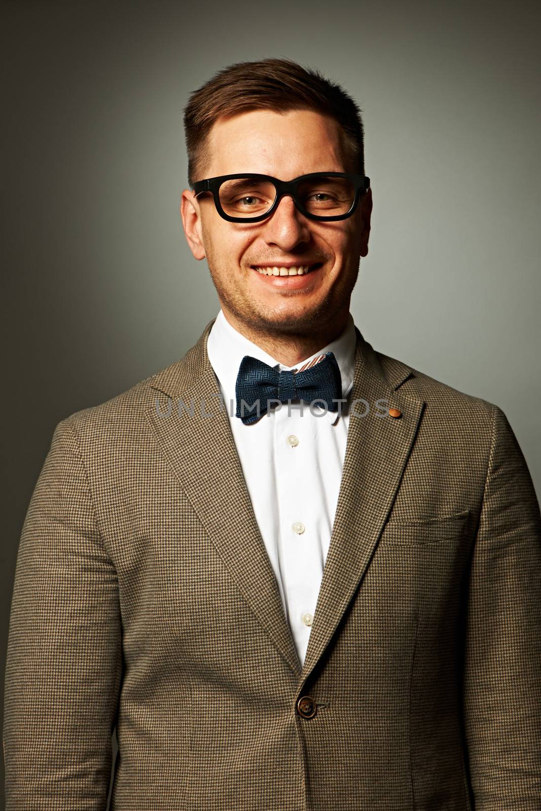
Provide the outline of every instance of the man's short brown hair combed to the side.
<path id="1" fill-rule="evenodd" d="M 341 126 L 346 160 L 364 174 L 363 121 L 353 98 L 315 68 L 305 68 L 293 59 L 268 58 L 236 62 L 191 92 L 184 108 L 190 187 L 203 179 L 202 167 L 210 160 L 208 133 L 217 119 L 251 109 L 277 113 L 313 109 L 334 118 Z"/>

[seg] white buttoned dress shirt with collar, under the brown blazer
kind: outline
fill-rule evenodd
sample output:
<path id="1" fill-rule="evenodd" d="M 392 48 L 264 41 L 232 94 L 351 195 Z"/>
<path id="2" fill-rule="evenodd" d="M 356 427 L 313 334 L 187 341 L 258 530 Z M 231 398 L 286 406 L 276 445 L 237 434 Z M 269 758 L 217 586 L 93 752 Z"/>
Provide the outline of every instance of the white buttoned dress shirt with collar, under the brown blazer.
<path id="1" fill-rule="evenodd" d="M 308 403 L 281 403 L 257 422 L 244 425 L 234 416 L 235 384 L 244 355 L 286 371 L 330 351 L 340 368 L 341 397 L 347 397 L 353 385 L 355 345 L 351 313 L 335 341 L 294 367 L 278 363 L 238 333 L 222 310 L 208 335 L 208 359 L 220 384 L 255 520 L 273 565 L 301 663 L 333 531 L 349 410 L 344 406 L 341 413 L 335 413 L 313 405 L 311 414 Z"/>

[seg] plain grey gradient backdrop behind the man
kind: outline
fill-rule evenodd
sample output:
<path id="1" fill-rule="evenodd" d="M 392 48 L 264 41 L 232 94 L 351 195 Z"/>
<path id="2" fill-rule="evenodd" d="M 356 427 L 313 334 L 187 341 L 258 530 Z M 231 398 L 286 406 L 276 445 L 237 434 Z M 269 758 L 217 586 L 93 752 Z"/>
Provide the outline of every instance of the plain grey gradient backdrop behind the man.
<path id="1" fill-rule="evenodd" d="M 288 56 L 354 95 L 374 199 L 355 323 L 499 405 L 539 494 L 534 2 L 19 0 L 2 17 L 2 677 L 55 425 L 173 363 L 217 314 L 178 213 L 182 107 L 232 62 Z"/>

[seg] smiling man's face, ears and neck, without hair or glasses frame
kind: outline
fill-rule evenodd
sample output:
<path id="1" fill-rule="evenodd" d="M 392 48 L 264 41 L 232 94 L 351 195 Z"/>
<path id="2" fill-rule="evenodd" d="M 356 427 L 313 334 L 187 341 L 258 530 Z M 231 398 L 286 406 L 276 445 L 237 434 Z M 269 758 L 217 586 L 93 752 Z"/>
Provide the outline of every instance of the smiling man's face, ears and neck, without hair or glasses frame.
<path id="1" fill-rule="evenodd" d="M 359 256 L 368 252 L 371 190 L 364 187 L 364 177 L 359 178 L 362 187 L 356 184 L 359 156 L 348 156 L 341 125 L 328 111 L 255 109 L 234 114 L 236 106 L 233 114 L 218 118 L 208 134 L 212 157 L 205 176 L 307 176 L 298 183 L 307 211 L 299 211 L 285 195 L 276 200 L 272 216 L 261 220 L 277 197 L 273 182 L 231 178 L 215 184 L 214 193 L 205 194 L 201 182 L 195 184 L 196 195 L 185 191 L 182 219 L 193 254 L 208 260 L 228 323 L 292 365 L 346 328 Z M 353 104 L 349 106 L 354 116 Z M 188 121 L 197 112 L 189 109 Z M 346 173 L 350 178 L 333 176 Z M 341 218 L 359 202 L 361 191 L 360 204 Z M 220 212 L 213 198 L 221 204 Z M 224 219 L 224 213 L 237 221 Z M 307 213 L 335 219 L 320 221 Z M 260 221 L 248 222 L 250 217 Z"/>

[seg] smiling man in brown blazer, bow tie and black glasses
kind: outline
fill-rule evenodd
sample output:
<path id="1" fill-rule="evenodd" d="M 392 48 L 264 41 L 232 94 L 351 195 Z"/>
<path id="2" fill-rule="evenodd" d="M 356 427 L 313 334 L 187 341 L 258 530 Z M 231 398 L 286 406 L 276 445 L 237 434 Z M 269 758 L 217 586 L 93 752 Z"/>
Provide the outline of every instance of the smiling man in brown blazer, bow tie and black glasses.
<path id="1" fill-rule="evenodd" d="M 8 809 L 541 808 L 541 518 L 505 414 L 374 350 L 359 109 L 239 63 L 185 114 L 221 305 L 62 420 L 19 547 Z M 263 177 L 261 177 L 263 176 Z M 384 305 L 382 305 L 382 319 Z"/>

